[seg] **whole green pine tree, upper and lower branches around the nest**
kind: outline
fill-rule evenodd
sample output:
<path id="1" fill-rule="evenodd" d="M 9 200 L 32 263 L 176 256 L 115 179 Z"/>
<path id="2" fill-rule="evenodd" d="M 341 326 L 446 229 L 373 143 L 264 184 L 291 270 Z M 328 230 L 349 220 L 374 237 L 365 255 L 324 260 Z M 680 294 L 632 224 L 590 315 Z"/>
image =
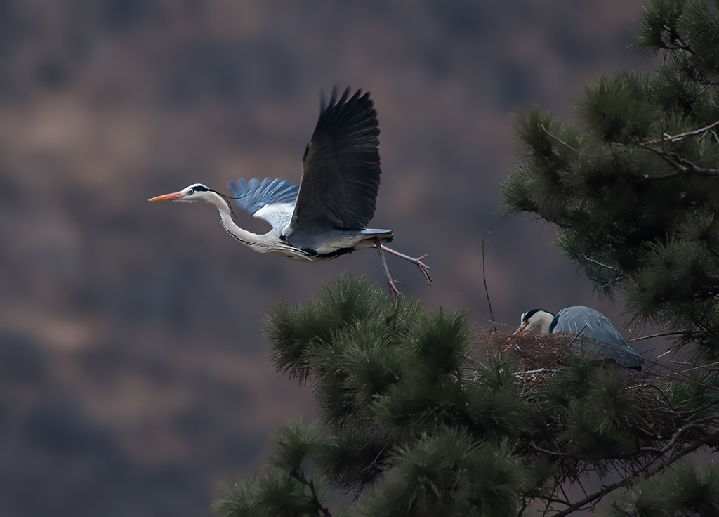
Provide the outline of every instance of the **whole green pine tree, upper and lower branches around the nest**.
<path id="1" fill-rule="evenodd" d="M 267 316 L 276 369 L 319 416 L 275 436 L 220 516 L 567 516 L 602 499 L 616 516 L 719 515 L 719 468 L 688 459 L 719 446 L 719 14 L 654 0 L 639 36 L 656 73 L 600 78 L 577 124 L 523 112 L 526 157 L 502 188 L 693 365 L 600 366 L 553 334 L 503 352 L 507 333 L 347 275 Z M 564 491 L 610 472 L 585 497 Z"/>

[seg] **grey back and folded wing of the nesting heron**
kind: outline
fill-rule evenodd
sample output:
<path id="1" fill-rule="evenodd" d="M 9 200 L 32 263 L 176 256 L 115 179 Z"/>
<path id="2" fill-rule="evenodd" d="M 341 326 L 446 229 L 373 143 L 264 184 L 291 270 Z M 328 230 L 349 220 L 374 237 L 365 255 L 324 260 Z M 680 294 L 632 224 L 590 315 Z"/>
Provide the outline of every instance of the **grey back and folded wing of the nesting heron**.
<path id="1" fill-rule="evenodd" d="M 550 332 L 580 334 L 580 345 L 597 353 L 601 360 L 612 360 L 619 365 L 641 370 L 642 358 L 626 344 L 626 339 L 607 316 L 590 307 L 563 308 L 554 316 Z M 582 340 L 582 337 L 590 339 Z"/>

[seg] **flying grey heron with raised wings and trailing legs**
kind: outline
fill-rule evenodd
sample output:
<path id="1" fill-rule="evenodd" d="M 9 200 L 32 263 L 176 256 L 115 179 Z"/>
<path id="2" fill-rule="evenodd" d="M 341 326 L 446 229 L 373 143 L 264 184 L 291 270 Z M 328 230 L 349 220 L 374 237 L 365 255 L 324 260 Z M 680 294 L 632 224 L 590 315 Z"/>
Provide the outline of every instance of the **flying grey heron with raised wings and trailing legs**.
<path id="1" fill-rule="evenodd" d="M 333 88 L 328 105 L 321 96 L 320 114 L 302 160 L 302 179 L 296 186 L 277 178 L 230 181 L 234 199 L 250 215 L 272 225 L 266 234 L 240 228 L 232 219 L 229 196 L 195 183 L 182 191 L 150 201 L 204 201 L 219 211 L 224 229 L 242 244 L 261 253 L 275 253 L 295 260 L 331 260 L 345 253 L 375 247 L 383 271 L 395 295 L 396 280 L 390 276 L 383 252 L 415 264 L 431 283 L 429 266 L 385 246 L 392 230 L 371 229 L 380 187 L 380 129 L 370 93 L 347 88 L 337 100 Z"/>

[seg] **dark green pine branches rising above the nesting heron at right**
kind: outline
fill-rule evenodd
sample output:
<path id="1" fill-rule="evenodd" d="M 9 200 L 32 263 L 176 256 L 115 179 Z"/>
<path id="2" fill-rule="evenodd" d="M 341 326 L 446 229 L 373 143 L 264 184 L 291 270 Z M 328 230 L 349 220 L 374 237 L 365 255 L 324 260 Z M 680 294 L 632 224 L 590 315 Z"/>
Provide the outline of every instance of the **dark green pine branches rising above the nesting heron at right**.
<path id="1" fill-rule="evenodd" d="M 636 47 L 655 73 L 602 77 L 569 124 L 519 115 L 527 150 L 503 184 L 510 213 L 554 223 L 559 246 L 635 319 L 719 360 L 719 12 L 646 4 Z"/>

